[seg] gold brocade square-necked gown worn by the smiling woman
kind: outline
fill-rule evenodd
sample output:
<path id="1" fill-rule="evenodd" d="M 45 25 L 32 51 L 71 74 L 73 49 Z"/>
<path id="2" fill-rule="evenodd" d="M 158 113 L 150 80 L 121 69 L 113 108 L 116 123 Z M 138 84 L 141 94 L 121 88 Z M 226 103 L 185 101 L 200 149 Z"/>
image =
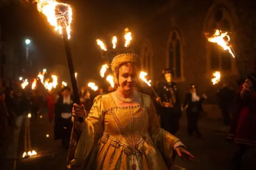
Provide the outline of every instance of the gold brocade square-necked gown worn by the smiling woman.
<path id="1" fill-rule="evenodd" d="M 150 97 L 140 96 L 141 106 L 130 107 L 117 107 L 111 94 L 95 98 L 69 167 L 170 169 L 179 139 L 160 128 Z"/>

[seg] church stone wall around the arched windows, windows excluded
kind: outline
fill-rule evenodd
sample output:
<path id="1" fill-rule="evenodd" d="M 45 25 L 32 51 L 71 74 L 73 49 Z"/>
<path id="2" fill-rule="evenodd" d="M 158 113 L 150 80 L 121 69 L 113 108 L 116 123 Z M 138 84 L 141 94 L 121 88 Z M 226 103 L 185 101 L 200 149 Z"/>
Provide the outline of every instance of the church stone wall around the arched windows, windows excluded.
<path id="1" fill-rule="evenodd" d="M 213 86 L 210 74 L 207 72 L 205 22 L 209 11 L 219 4 L 227 7 L 233 20 L 236 33 L 234 49 L 238 55 L 242 71 L 247 74 L 251 71 L 255 46 L 255 19 L 254 1 L 174 1 L 169 10 L 161 15 L 156 15 L 146 24 L 140 25 L 141 41 L 148 39 L 151 43 L 154 67 L 154 81 L 161 81 L 161 70 L 167 67 L 167 42 L 171 30 L 180 33 L 182 44 L 182 60 L 184 79 L 177 81 L 183 97 L 188 91 L 190 83 L 198 85 L 199 94 L 206 93 L 211 98 L 206 101 L 209 104 L 217 104 L 216 92 L 221 84 Z M 143 30 L 143 31 L 142 31 Z M 230 56 L 231 57 L 231 56 Z M 234 74 L 226 74 L 223 78 L 230 82 L 236 89 L 236 81 L 239 79 L 238 71 Z"/>

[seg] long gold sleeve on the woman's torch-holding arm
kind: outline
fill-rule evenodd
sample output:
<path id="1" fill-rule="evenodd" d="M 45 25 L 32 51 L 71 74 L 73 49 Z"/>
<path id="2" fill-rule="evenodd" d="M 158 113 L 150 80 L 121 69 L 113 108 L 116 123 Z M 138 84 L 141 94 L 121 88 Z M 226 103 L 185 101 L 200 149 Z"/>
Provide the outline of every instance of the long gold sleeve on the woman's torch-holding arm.
<path id="1" fill-rule="evenodd" d="M 97 96 L 89 115 L 85 118 L 83 130 L 78 140 L 75 157 L 68 165 L 68 168 L 84 165 L 94 145 L 97 145 L 102 133 L 103 122 L 102 96 Z"/>

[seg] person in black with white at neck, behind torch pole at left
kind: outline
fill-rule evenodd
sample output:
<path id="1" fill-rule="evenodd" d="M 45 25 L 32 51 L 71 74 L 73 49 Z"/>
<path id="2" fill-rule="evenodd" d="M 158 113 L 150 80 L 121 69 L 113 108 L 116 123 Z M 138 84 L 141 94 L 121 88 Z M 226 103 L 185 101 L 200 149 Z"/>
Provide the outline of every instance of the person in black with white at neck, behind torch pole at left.
<path id="1" fill-rule="evenodd" d="M 70 95 L 69 87 L 62 89 L 61 96 L 55 104 L 54 140 L 60 140 L 62 146 L 68 148 L 72 130 L 71 112 L 73 107 L 73 96 Z"/>

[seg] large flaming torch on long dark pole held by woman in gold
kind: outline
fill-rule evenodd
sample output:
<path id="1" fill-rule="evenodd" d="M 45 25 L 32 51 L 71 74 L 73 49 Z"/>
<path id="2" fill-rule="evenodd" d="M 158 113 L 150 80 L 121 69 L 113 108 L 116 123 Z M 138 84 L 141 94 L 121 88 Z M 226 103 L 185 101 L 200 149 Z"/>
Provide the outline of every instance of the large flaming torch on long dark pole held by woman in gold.
<path id="1" fill-rule="evenodd" d="M 59 33 L 62 33 L 67 55 L 69 74 L 73 88 L 74 102 L 80 104 L 74 65 L 68 42 L 68 39 L 70 38 L 70 24 L 72 21 L 71 7 L 68 4 L 58 3 L 57 1 L 54 0 L 36 0 L 35 2 L 37 2 L 37 10 L 39 12 L 42 12 L 47 17 L 48 22 L 55 27 L 55 30 L 59 31 Z M 82 117 L 79 117 L 79 122 L 83 122 Z M 70 160 L 72 160 L 74 157 L 78 138 L 79 135 L 73 126 L 70 137 L 67 162 L 70 162 Z"/>

